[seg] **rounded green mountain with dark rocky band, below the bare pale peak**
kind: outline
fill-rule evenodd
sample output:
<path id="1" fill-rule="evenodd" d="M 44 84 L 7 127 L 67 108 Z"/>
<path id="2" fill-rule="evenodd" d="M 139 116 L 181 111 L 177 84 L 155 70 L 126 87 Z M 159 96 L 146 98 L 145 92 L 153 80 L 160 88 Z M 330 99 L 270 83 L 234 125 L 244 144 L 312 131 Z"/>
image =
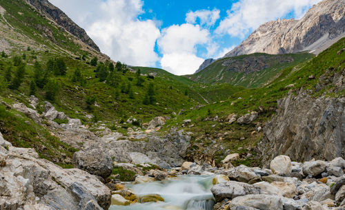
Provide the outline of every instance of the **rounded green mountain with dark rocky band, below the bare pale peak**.
<path id="1" fill-rule="evenodd" d="M 228 83 L 243 87 L 259 87 L 286 67 L 311 59 L 312 54 L 255 53 L 218 59 L 187 78 L 199 83 Z"/>

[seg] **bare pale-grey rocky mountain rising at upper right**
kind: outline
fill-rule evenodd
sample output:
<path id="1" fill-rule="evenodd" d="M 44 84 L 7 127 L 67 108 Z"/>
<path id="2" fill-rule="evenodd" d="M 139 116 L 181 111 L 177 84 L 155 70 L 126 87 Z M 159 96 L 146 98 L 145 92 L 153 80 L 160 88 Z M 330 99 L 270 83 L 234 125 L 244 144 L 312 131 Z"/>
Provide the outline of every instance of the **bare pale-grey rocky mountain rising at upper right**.
<path id="1" fill-rule="evenodd" d="M 345 36 L 344 8 L 344 0 L 324 0 L 308 10 L 302 19 L 264 23 L 224 57 L 255 52 L 286 54 L 310 51 L 319 54 Z"/>

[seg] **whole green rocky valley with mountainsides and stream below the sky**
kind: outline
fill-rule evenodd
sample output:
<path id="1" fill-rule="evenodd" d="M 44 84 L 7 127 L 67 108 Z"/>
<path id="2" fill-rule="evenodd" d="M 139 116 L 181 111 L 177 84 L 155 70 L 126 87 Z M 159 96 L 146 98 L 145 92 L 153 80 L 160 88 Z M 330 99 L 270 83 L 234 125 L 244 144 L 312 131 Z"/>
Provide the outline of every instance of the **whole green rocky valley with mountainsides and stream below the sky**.
<path id="1" fill-rule="evenodd" d="M 337 20 L 317 54 L 255 51 L 255 31 L 177 76 L 112 61 L 49 1 L 0 0 L 0 209 L 342 209 L 343 5 L 307 12 Z"/>

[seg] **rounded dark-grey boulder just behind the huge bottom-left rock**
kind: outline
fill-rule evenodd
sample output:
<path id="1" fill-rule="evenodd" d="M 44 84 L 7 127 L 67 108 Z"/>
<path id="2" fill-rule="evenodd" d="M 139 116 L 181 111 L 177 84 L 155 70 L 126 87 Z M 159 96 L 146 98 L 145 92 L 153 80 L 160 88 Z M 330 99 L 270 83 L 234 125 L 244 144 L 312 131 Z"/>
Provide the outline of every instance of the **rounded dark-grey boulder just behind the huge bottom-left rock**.
<path id="1" fill-rule="evenodd" d="M 88 171 L 90 174 L 108 178 L 112 169 L 112 158 L 101 148 L 93 148 L 75 152 L 73 165 L 78 169 Z"/>

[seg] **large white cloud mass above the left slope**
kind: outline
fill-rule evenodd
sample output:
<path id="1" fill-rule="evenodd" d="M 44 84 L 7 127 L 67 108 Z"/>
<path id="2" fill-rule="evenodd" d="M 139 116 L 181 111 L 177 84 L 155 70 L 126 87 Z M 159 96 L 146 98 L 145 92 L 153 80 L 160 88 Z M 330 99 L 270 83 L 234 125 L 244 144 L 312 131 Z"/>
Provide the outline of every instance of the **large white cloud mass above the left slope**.
<path id="1" fill-rule="evenodd" d="M 55 1 L 58 6 L 61 4 L 63 7 L 66 3 L 70 3 L 67 0 L 52 0 L 52 3 Z M 73 19 L 74 16 L 75 20 L 78 20 L 91 39 L 99 45 L 101 51 L 108 54 L 111 59 L 130 65 L 146 66 L 154 66 L 159 61 L 154 51 L 155 43 L 160 36 L 155 21 L 140 21 L 137 18 L 143 13 L 143 1 L 87 0 L 85 3 L 81 0 L 77 1 L 79 5 L 85 4 L 83 7 L 88 7 L 86 11 L 92 13 L 70 12 L 71 18 Z"/>

